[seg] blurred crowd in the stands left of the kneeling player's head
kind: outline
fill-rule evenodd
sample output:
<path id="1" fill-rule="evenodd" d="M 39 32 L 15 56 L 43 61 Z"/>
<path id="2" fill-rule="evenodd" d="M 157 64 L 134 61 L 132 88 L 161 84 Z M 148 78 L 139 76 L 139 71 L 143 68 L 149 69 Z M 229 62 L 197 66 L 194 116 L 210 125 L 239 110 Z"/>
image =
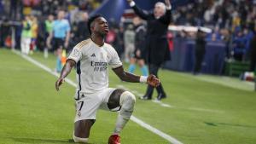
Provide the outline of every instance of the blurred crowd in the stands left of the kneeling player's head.
<path id="1" fill-rule="evenodd" d="M 72 28 L 69 47 L 73 47 L 88 37 L 86 20 L 101 3 L 102 0 L 0 0 L 0 46 L 11 47 L 12 32 L 15 32 L 16 48 L 22 47 L 22 37 L 29 37 L 30 51 L 44 50 L 58 11 L 65 10 L 65 19 Z"/>

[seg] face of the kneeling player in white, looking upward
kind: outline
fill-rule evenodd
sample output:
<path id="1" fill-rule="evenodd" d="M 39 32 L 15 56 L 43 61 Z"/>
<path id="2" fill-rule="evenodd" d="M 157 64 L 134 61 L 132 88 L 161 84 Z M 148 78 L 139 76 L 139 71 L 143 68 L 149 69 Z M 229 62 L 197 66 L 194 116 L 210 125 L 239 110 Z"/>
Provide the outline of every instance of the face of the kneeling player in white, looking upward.
<path id="1" fill-rule="evenodd" d="M 99 17 L 95 20 L 95 25 L 94 25 L 94 28 L 93 28 L 94 32 L 98 32 L 104 36 L 106 36 L 108 34 L 108 22 L 106 19 L 102 18 L 102 17 Z"/>

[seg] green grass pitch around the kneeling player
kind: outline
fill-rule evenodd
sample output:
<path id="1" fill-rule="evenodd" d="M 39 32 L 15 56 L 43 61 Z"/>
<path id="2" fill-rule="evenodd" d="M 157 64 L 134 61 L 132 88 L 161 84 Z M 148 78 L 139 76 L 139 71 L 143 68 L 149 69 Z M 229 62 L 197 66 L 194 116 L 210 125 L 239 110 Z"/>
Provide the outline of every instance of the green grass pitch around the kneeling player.
<path id="1" fill-rule="evenodd" d="M 51 69 L 54 55 L 31 55 Z M 126 67 L 126 65 L 125 65 Z M 139 70 L 137 74 L 141 74 Z M 172 135 L 184 144 L 255 144 L 256 93 L 253 84 L 235 78 L 192 76 L 160 70 L 169 95 L 161 103 L 137 99 L 134 116 Z M 75 72 L 68 78 L 75 82 Z M 73 143 L 75 88 L 64 84 L 55 91 L 55 76 L 0 49 L 0 143 Z M 120 82 L 109 70 L 110 87 L 122 85 L 143 94 L 145 84 Z M 154 97 L 156 94 L 154 95 Z M 106 144 L 117 113 L 100 110 L 90 133 L 90 144 Z M 122 144 L 167 144 L 159 135 L 130 121 L 121 133 Z"/>

